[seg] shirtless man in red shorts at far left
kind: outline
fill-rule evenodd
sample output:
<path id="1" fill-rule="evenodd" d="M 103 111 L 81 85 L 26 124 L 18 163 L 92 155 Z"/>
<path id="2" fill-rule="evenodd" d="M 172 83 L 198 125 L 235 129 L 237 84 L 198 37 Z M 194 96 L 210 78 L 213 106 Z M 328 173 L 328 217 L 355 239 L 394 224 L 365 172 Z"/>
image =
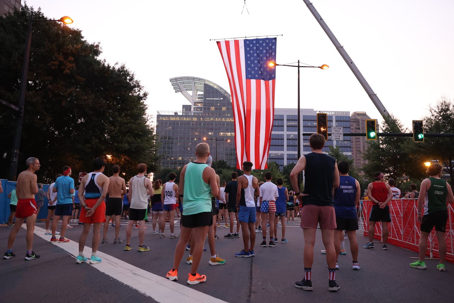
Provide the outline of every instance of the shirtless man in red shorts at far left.
<path id="1" fill-rule="evenodd" d="M 25 164 L 27 165 L 27 170 L 20 173 L 17 177 L 16 194 L 18 201 L 16 207 L 16 224 L 13 230 L 11 230 L 8 238 L 8 247 L 3 256 L 4 259 L 15 257 L 12 248 L 16 235 L 22 227 L 22 224 L 24 224 L 24 220 L 27 224 L 27 235 L 25 237 L 27 241 L 27 254 L 25 255 L 25 260 L 39 258 L 39 255 L 34 253 L 31 248 L 33 245 L 33 232 L 35 231 L 36 221 L 35 194 L 38 193 L 35 171 L 37 171 L 41 165 L 39 164 L 39 160 L 33 157 L 27 159 Z"/>

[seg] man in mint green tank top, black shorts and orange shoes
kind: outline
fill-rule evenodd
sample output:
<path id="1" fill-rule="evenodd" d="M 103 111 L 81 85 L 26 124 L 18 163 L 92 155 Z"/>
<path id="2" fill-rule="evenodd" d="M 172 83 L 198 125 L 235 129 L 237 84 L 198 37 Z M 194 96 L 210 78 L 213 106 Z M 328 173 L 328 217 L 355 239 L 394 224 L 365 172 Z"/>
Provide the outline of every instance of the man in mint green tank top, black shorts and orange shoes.
<path id="1" fill-rule="evenodd" d="M 173 268 L 166 275 L 166 278 L 172 281 L 178 280 L 178 267 L 191 234 L 193 256 L 188 284 L 203 283 L 207 280 L 207 276 L 197 273 L 197 268 L 202 258 L 203 243 L 207 237 L 208 227 L 213 220 L 211 196 L 219 195 L 216 173 L 206 164 L 209 155 L 210 147 L 207 143 L 197 144 L 197 159 L 186 164 L 180 174 L 179 196 L 183 201 L 181 234 L 175 247 Z"/>

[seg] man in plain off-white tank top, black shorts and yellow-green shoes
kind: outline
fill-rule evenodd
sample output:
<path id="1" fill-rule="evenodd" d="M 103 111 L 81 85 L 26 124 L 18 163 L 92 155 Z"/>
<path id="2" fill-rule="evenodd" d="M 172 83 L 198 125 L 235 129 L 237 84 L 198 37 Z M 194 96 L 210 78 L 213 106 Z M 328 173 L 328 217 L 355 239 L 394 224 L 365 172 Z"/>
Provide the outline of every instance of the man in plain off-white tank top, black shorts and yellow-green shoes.
<path id="1" fill-rule="evenodd" d="M 128 199 L 131 201 L 129 206 L 129 221 L 126 228 L 126 246 L 124 250 L 131 250 L 131 234 L 133 231 L 134 221 L 139 224 L 139 247 L 137 251 L 146 252 L 149 247 L 143 245 L 145 238 L 145 216 L 147 214 L 148 195 L 153 196 L 153 185 L 151 180 L 145 177 L 147 172 L 146 164 L 137 165 L 138 174 L 129 180 Z"/>

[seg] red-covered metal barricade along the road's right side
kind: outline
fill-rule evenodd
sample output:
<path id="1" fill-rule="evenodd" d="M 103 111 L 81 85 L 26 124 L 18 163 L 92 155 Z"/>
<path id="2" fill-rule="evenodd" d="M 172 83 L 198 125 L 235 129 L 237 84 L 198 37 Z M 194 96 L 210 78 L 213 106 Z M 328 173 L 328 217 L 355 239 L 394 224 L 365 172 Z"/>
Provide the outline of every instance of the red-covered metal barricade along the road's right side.
<path id="1" fill-rule="evenodd" d="M 370 200 L 362 200 L 362 211 L 364 214 L 364 236 L 368 237 L 369 216 L 372 210 Z M 416 211 L 418 206 L 417 199 L 392 199 L 390 202 L 391 223 L 389 225 L 390 235 L 388 243 L 401 248 L 406 248 L 419 253 L 419 226 L 416 221 Z M 448 205 L 448 222 L 446 223 L 446 261 L 454 263 L 454 209 Z M 374 239 L 381 241 L 381 223 L 375 224 Z M 427 256 L 439 258 L 438 240 L 435 230 L 429 235 Z M 416 257 L 417 255 L 415 255 Z"/>

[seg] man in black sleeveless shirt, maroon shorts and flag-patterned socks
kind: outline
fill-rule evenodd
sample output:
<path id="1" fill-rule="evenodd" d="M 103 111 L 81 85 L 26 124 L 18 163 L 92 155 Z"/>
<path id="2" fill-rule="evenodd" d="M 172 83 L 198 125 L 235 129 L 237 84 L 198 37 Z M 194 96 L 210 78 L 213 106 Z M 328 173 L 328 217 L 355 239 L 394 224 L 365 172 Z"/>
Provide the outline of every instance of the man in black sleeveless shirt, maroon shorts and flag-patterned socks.
<path id="1" fill-rule="evenodd" d="M 296 199 L 300 200 L 301 228 L 304 234 L 304 279 L 295 283 L 295 287 L 312 290 L 311 270 L 314 262 L 314 244 L 317 224 L 320 223 L 321 238 L 326 248 L 326 263 L 329 271 L 329 291 L 337 291 L 336 250 L 334 248 L 334 229 L 336 213 L 334 211 L 333 188 L 339 187 L 339 171 L 336 160 L 324 154 L 325 137 L 312 134 L 309 138 L 312 152 L 301 156 L 290 173 L 291 185 Z M 300 193 L 298 174 L 304 170 L 304 194 Z"/>

